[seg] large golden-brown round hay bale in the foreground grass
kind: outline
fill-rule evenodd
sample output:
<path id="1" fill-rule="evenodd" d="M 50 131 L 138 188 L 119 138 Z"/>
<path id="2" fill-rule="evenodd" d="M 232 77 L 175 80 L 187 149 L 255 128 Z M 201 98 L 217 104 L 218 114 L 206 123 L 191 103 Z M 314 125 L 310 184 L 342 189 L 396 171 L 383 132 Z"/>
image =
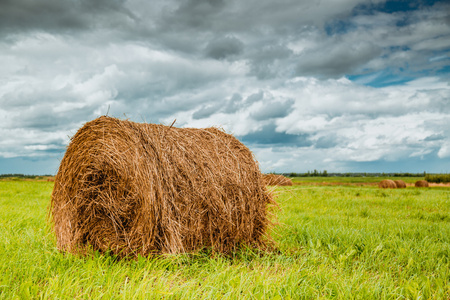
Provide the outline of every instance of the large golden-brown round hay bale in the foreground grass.
<path id="1" fill-rule="evenodd" d="M 72 253 L 229 253 L 265 245 L 269 203 L 253 154 L 222 130 L 102 116 L 72 137 L 50 220 Z"/>

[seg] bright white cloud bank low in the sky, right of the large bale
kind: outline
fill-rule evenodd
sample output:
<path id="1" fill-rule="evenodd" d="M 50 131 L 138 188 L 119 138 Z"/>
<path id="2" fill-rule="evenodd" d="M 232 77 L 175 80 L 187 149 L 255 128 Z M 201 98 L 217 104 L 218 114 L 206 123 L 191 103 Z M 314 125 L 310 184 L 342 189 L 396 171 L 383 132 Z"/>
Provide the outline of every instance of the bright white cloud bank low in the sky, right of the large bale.
<path id="1" fill-rule="evenodd" d="M 253 89 L 248 82 L 245 87 L 240 87 L 244 98 Z M 436 90 L 440 93 L 436 94 Z M 424 157 L 437 152 L 441 144 L 450 139 L 449 136 L 430 138 L 448 126 L 444 125 L 448 124 L 448 113 L 436 109 L 436 104 L 450 97 L 450 88 L 437 78 L 423 78 L 404 86 L 379 89 L 358 86 L 346 79 L 319 81 L 303 78 L 273 87 L 270 91 L 264 91 L 264 94 L 274 99 L 280 97 L 294 101 L 289 114 L 274 119 L 276 131 L 290 136 L 307 134 L 312 143 L 312 146 L 299 144 L 298 147 L 291 145 L 288 149 L 277 148 L 275 154 L 270 152 L 272 158 L 269 158 L 268 148 L 253 145 L 258 159 L 262 162 L 267 160 L 262 163 L 265 170 L 286 170 L 290 163 L 300 166 L 298 161 L 292 162 L 285 156 L 301 154 L 299 157 L 305 162 L 305 152 L 311 156 L 317 154 L 314 161 L 316 165 L 336 166 L 350 161 L 392 162 L 408 157 Z M 264 130 L 264 124 L 270 124 L 268 118 L 264 121 L 249 118 L 254 111 L 266 107 L 265 101 L 261 98 L 251 106 L 231 114 L 211 111 L 206 118 L 197 120 L 190 117 L 189 111 L 180 112 L 174 117 L 183 126 L 219 125 L 245 137 Z M 217 103 L 220 104 L 220 101 Z M 166 123 L 170 123 L 169 118 Z M 323 147 L 319 146 L 321 138 L 325 149 L 320 149 Z M 328 138 L 326 144 L 323 144 L 323 138 Z M 442 157 L 444 150 L 439 152 Z"/>

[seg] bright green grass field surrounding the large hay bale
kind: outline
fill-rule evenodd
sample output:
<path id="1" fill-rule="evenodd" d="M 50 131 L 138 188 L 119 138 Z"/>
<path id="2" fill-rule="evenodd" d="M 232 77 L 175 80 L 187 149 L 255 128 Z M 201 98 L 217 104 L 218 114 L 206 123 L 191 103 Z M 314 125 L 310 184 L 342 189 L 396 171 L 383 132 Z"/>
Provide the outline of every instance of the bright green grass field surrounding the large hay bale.
<path id="1" fill-rule="evenodd" d="M 0 181 L 2 299 L 450 298 L 450 188 L 278 188 L 277 251 L 132 261 L 59 253 L 52 188 Z"/>

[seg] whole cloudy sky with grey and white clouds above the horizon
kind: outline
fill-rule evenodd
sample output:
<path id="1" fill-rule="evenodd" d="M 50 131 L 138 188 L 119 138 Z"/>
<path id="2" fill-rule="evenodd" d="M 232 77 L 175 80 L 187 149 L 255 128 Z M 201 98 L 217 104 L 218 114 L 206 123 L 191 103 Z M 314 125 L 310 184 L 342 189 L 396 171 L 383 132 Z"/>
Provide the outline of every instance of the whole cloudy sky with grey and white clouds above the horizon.
<path id="1" fill-rule="evenodd" d="M 450 172 L 450 3 L 0 0 L 0 173 L 108 113 L 220 126 L 265 172 Z"/>

